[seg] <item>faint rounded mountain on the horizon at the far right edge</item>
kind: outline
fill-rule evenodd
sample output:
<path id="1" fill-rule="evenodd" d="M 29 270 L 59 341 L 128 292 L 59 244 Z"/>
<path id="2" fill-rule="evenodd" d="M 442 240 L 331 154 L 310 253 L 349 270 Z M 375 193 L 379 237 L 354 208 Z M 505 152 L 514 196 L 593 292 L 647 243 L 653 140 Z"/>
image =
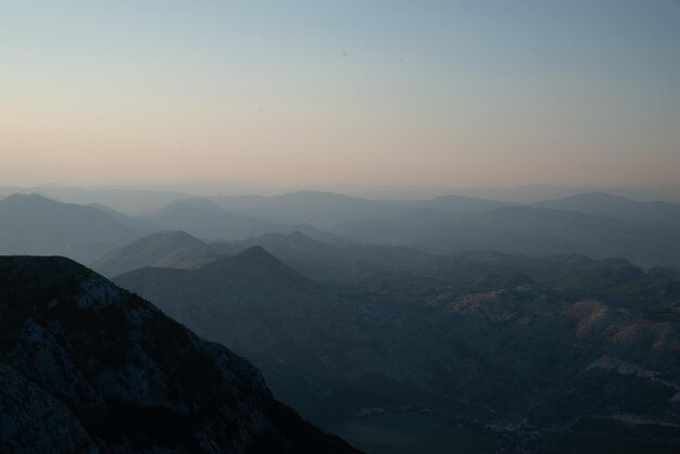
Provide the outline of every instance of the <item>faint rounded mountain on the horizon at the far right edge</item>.
<path id="1" fill-rule="evenodd" d="M 537 206 L 609 216 L 633 224 L 680 226 L 680 204 L 678 203 L 637 202 L 604 192 L 588 192 L 566 199 L 544 201 L 538 203 Z"/>

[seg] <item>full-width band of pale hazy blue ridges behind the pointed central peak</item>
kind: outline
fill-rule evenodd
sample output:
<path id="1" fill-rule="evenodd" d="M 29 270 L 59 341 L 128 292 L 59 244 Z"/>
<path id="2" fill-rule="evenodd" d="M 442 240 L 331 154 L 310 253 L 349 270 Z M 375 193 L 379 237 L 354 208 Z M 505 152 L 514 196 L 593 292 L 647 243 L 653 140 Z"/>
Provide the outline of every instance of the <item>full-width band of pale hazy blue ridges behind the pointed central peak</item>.
<path id="1" fill-rule="evenodd" d="M 439 254 L 579 253 L 625 257 L 645 267 L 680 266 L 680 204 L 597 193 L 534 205 L 456 196 L 380 201 L 318 192 L 181 198 L 140 216 L 38 196 L 0 200 L 0 253 L 60 254 L 89 264 L 118 245 L 164 230 L 210 241 L 301 231 L 331 244 L 364 242 Z"/>

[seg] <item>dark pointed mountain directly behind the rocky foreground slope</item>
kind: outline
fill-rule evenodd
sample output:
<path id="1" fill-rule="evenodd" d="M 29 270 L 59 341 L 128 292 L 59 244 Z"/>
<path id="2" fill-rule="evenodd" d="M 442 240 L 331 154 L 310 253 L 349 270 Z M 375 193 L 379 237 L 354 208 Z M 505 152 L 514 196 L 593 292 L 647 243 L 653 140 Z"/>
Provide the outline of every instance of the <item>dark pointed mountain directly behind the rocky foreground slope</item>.
<path id="1" fill-rule="evenodd" d="M 318 366 L 326 348 L 333 355 L 347 355 L 350 363 L 355 353 L 356 360 L 365 357 L 361 346 L 355 352 L 353 342 L 344 340 L 357 330 L 366 335 L 363 324 L 352 326 L 360 300 L 335 294 L 332 287 L 307 279 L 260 247 L 196 270 L 142 268 L 114 281 L 153 300 L 206 339 L 265 367 L 275 393 L 304 416 L 325 423 L 344 409 L 336 401 L 343 393 L 337 383 L 348 370 Z M 318 389 L 310 394 L 310 386 Z M 337 395 L 330 401 L 310 400 L 319 393 Z"/>

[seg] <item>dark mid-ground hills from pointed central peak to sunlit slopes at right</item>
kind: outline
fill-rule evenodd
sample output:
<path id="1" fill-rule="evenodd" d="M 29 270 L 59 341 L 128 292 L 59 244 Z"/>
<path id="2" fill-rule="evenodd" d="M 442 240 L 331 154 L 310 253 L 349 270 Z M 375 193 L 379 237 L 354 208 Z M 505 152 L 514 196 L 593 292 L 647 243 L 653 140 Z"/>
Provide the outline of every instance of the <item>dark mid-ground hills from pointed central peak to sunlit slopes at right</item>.
<path id="1" fill-rule="evenodd" d="M 680 447 L 680 276 L 624 260 L 468 253 L 353 287 L 252 248 L 115 281 L 252 360 L 319 425 L 411 409 L 518 452 Z"/>

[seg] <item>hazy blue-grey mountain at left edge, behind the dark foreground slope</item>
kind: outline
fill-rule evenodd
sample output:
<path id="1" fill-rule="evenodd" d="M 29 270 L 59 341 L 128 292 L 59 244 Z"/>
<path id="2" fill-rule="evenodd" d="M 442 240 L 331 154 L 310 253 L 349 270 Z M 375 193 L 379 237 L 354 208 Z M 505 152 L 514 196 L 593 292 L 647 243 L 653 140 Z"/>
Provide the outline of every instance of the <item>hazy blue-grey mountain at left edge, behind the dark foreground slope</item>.
<path id="1" fill-rule="evenodd" d="M 33 194 L 0 200 L 0 253 L 66 255 L 89 262 L 138 232 L 109 213 Z"/>

